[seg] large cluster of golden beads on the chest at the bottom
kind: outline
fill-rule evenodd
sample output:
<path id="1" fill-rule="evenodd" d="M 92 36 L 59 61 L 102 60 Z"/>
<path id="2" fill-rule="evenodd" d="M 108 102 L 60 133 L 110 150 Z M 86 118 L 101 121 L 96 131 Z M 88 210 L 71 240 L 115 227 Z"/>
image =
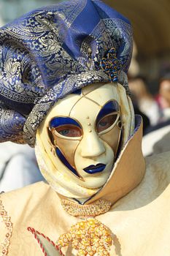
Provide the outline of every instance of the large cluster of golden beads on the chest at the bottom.
<path id="1" fill-rule="evenodd" d="M 58 238 L 60 249 L 69 244 L 77 250 L 77 256 L 109 256 L 112 233 L 97 219 L 82 220 Z"/>

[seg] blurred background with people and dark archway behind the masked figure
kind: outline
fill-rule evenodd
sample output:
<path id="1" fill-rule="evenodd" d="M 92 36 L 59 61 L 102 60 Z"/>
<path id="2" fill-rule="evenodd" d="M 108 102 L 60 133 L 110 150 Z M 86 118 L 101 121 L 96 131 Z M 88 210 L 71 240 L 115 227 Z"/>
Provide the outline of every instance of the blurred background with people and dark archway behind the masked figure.
<path id="1" fill-rule="evenodd" d="M 0 26 L 57 0 L 0 0 Z M 144 121 L 144 156 L 170 150 L 170 1 L 105 0 L 131 20 L 134 52 L 128 72 L 136 114 Z M 34 149 L 0 144 L 0 192 L 42 180 Z"/>

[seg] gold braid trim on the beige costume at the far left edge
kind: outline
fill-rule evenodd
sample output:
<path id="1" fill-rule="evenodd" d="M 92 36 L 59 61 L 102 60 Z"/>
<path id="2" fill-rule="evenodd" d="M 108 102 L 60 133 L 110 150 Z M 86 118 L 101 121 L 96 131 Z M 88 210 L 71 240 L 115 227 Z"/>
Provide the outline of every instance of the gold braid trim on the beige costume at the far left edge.
<path id="1" fill-rule="evenodd" d="M 2 222 L 4 222 L 4 225 L 7 229 L 7 233 L 5 235 L 4 241 L 1 243 L 1 246 L 0 246 L 1 255 L 5 256 L 5 255 L 8 255 L 10 238 L 12 236 L 12 222 L 11 222 L 11 218 L 7 214 L 7 211 L 4 210 L 4 206 L 1 200 L 0 200 L 0 215 L 2 218 Z"/>

